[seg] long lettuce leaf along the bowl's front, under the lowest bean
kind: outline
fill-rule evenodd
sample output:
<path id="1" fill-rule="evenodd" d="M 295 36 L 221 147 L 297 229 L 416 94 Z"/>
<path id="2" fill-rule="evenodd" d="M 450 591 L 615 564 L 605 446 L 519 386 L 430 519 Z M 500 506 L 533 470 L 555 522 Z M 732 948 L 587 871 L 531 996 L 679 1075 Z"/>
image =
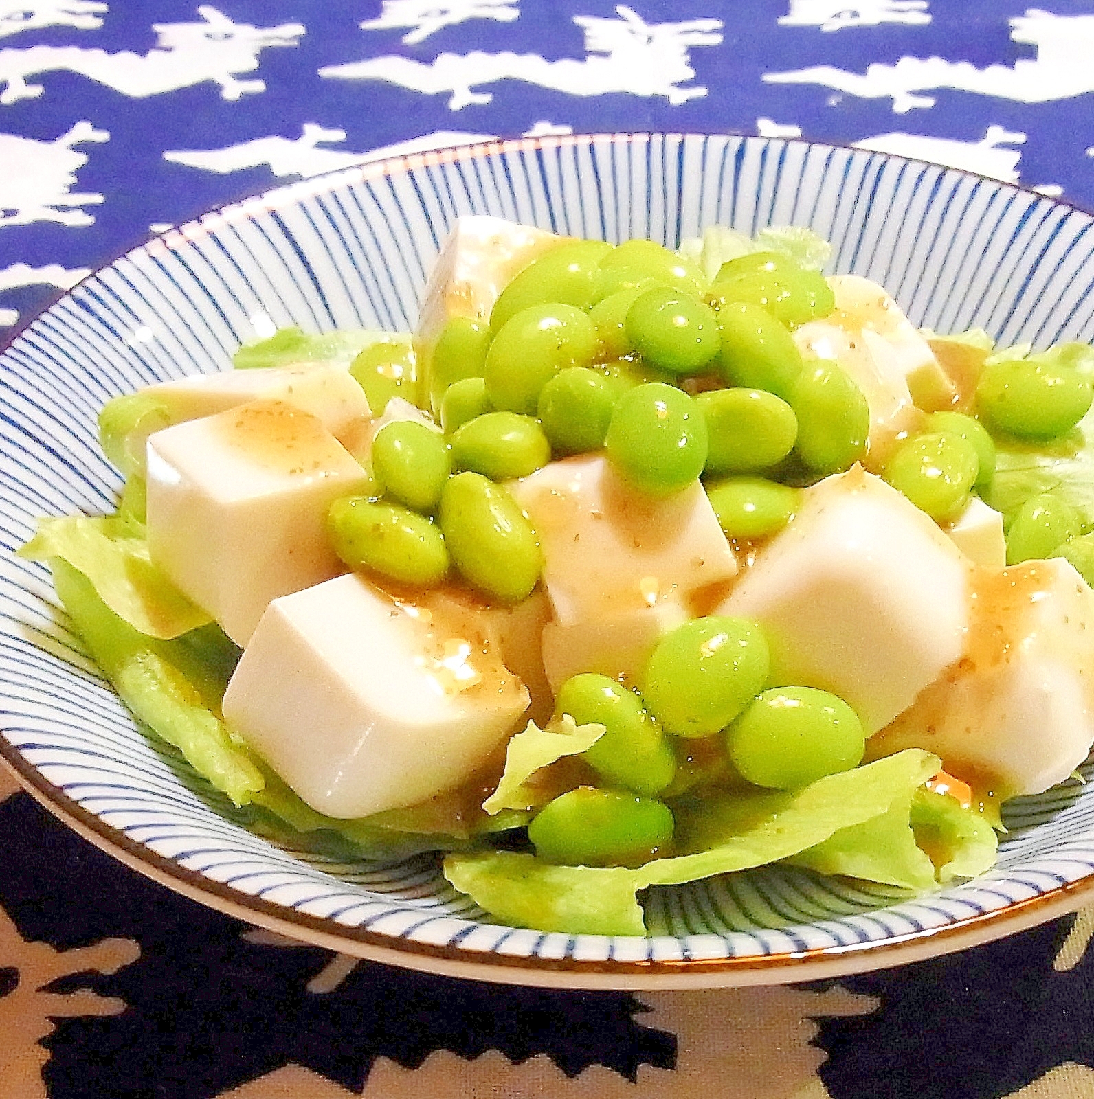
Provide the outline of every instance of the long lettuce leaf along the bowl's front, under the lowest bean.
<path id="1" fill-rule="evenodd" d="M 800 790 L 727 795 L 674 807 L 677 850 L 636 869 L 552 866 L 517 852 L 452 854 L 444 875 L 507 923 L 571 934 L 641 935 L 637 892 L 763 866 L 862 824 L 937 774 L 939 759 L 908 748 Z"/>

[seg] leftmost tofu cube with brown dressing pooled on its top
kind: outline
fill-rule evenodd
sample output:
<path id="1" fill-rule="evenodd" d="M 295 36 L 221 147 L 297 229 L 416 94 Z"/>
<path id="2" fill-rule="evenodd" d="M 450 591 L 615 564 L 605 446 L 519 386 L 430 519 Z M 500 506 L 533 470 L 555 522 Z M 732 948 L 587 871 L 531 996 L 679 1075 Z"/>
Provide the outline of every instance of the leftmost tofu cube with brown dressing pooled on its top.
<path id="1" fill-rule="evenodd" d="M 272 599 L 344 571 L 327 539 L 327 511 L 367 486 L 317 417 L 253 401 L 148 439 L 148 550 L 246 645 Z"/>

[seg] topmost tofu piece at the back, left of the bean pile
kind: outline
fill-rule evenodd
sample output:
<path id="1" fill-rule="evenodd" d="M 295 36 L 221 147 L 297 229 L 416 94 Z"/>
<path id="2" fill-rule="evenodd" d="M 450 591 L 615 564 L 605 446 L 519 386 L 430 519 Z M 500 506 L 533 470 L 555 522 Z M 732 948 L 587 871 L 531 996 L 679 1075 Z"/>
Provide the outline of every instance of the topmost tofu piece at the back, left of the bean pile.
<path id="1" fill-rule="evenodd" d="M 432 346 L 453 317 L 489 320 L 512 277 L 565 237 L 483 214 L 460 218 L 426 284 L 416 343 Z"/>

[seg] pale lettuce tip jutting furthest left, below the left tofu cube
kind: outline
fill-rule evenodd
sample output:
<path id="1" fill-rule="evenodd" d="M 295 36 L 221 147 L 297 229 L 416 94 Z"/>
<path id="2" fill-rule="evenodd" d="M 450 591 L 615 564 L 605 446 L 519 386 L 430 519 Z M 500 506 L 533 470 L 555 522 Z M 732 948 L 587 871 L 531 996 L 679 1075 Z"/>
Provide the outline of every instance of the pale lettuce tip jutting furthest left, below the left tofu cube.
<path id="1" fill-rule="evenodd" d="M 111 611 L 150 637 L 178 637 L 208 623 L 209 615 L 153 564 L 143 535 L 143 528 L 119 518 L 42 519 L 19 556 L 67 562 Z"/>

